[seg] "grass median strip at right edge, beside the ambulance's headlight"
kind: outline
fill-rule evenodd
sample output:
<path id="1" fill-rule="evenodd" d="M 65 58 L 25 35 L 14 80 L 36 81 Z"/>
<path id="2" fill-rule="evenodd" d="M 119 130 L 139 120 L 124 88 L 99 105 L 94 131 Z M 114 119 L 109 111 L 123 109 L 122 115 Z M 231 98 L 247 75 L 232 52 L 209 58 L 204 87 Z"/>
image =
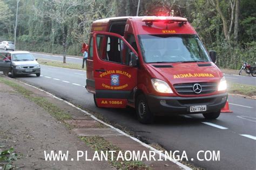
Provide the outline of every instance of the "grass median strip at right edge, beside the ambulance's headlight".
<path id="1" fill-rule="evenodd" d="M 245 96 L 256 96 L 256 86 L 232 83 L 228 86 L 227 92 Z"/>

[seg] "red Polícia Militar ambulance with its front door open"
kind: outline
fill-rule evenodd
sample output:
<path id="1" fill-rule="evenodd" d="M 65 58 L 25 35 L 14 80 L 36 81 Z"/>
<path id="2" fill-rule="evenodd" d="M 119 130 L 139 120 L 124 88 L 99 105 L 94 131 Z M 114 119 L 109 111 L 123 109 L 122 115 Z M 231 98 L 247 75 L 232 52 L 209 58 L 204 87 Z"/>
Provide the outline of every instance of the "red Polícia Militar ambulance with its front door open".
<path id="1" fill-rule="evenodd" d="M 163 114 L 216 119 L 227 84 L 215 60 L 186 18 L 99 19 L 91 29 L 86 89 L 97 107 L 134 107 L 141 123 Z"/>

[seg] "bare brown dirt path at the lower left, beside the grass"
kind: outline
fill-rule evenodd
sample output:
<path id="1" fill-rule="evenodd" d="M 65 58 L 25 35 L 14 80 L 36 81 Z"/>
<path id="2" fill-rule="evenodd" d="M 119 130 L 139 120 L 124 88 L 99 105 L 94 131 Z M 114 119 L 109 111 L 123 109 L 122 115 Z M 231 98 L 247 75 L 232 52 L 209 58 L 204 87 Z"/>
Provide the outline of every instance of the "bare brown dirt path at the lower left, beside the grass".
<path id="1" fill-rule="evenodd" d="M 77 151 L 88 151 L 91 157 L 93 151 L 59 120 L 16 89 L 1 82 L 0 89 L 0 151 L 14 148 L 19 158 L 13 162 L 16 168 L 112 169 L 107 161 L 45 161 L 44 151 L 68 150 L 70 158 L 75 160 Z M 1 166 L 4 162 L 0 162 Z"/>

